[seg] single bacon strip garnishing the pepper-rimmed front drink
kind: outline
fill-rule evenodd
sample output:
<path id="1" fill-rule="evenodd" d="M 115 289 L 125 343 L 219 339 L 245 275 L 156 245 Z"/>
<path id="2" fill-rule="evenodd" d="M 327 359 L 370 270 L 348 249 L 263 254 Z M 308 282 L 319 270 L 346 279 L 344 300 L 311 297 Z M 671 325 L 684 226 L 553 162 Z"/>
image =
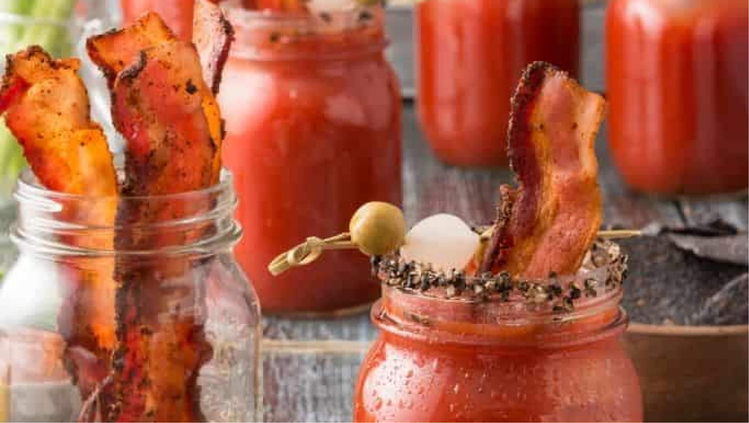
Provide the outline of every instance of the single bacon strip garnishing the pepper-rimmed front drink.
<path id="1" fill-rule="evenodd" d="M 527 278 L 575 273 L 601 225 L 595 136 L 605 101 L 543 62 L 512 99 L 508 148 L 518 195 L 482 270 Z"/>

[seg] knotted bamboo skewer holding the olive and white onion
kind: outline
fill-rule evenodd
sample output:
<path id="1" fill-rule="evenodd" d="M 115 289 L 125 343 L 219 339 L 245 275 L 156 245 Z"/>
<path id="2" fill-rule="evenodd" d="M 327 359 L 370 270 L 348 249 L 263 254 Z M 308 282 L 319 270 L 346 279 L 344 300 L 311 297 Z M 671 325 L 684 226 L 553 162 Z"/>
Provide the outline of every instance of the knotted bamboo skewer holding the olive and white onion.
<path id="1" fill-rule="evenodd" d="M 619 240 L 622 238 L 640 237 L 643 231 L 634 229 L 613 229 L 598 231 L 598 237 L 609 240 Z M 335 237 L 321 239 L 318 237 L 309 237 L 307 240 L 293 249 L 283 252 L 276 256 L 268 264 L 268 271 L 273 276 L 278 276 L 286 270 L 295 266 L 304 266 L 317 260 L 325 250 L 340 249 L 358 249 L 359 247 L 351 242 L 351 234 L 344 232 Z"/>

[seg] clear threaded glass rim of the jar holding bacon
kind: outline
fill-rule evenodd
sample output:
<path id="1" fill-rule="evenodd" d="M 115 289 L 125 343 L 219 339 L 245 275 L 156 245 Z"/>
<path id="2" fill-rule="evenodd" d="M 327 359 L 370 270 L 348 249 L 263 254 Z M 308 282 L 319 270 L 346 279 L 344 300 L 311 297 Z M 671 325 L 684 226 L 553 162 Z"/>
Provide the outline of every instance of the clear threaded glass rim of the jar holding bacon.
<path id="1" fill-rule="evenodd" d="M 205 189 L 119 196 L 52 191 L 40 186 L 34 174 L 26 170 L 14 196 L 19 213 L 11 225 L 10 240 L 41 255 L 215 254 L 234 246 L 242 233 L 233 217 L 237 195 L 231 172 L 226 169 L 222 169 L 218 183 Z M 138 219 L 136 214 L 130 219 L 129 213 L 117 217 L 122 210 L 145 210 L 150 217 Z M 115 243 L 117 239 L 123 242 Z"/>

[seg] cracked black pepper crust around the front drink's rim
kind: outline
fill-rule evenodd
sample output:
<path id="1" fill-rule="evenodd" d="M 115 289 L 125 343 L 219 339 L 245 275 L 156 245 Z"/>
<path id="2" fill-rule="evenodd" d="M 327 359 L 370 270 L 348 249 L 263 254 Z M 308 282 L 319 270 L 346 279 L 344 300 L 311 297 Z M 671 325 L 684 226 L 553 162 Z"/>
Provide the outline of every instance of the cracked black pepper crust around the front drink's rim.
<path id="1" fill-rule="evenodd" d="M 501 272 L 466 276 L 464 271 L 433 270 L 431 264 L 404 261 L 399 255 L 372 258 L 372 274 L 404 293 L 465 302 L 526 302 L 552 311 L 574 311 L 584 298 L 619 290 L 627 273 L 628 256 L 610 240 L 596 240 L 574 275 L 551 273 L 548 279 L 525 279 Z"/>

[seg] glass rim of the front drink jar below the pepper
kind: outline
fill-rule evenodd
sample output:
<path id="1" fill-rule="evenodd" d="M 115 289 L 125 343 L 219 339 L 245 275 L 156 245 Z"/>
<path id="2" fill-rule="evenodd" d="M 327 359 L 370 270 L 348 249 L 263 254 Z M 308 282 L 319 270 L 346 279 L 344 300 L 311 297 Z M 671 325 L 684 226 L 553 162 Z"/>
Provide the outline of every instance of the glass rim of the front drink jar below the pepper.
<path id="1" fill-rule="evenodd" d="M 383 287 L 372 306 L 372 323 L 401 338 L 470 346 L 556 348 L 587 344 L 622 332 L 629 322 L 619 305 L 619 287 L 574 311 L 515 310 L 496 312 L 507 303 L 416 298 Z M 419 303 L 421 302 L 421 303 Z"/>

